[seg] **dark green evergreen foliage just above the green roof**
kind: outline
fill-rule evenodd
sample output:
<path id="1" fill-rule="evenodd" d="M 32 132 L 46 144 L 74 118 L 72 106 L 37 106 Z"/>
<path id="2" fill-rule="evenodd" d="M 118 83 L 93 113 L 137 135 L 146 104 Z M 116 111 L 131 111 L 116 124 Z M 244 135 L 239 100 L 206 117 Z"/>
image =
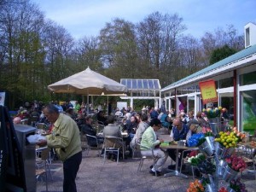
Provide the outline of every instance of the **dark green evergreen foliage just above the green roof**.
<path id="1" fill-rule="evenodd" d="M 236 49 L 230 48 L 227 44 L 223 47 L 214 49 L 212 51 L 212 55 L 210 57 L 210 64 L 216 63 L 218 61 L 223 60 L 224 58 L 235 54 L 237 51 Z"/>

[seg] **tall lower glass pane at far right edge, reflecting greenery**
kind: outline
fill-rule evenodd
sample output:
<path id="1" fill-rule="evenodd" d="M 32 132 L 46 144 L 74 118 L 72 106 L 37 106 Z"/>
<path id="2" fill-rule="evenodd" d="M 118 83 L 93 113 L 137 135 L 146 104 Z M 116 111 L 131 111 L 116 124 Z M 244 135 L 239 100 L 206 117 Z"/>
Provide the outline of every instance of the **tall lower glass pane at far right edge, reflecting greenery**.
<path id="1" fill-rule="evenodd" d="M 256 129 L 256 90 L 247 90 L 242 96 L 242 131 L 254 134 Z"/>

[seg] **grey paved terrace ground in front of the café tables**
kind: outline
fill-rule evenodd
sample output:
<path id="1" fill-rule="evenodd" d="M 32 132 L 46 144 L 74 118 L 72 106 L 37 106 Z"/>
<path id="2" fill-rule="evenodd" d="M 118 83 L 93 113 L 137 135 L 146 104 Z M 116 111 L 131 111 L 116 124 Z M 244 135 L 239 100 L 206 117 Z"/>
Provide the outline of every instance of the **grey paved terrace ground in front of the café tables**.
<path id="1" fill-rule="evenodd" d="M 96 151 L 90 150 L 88 155 L 83 152 L 83 160 L 76 180 L 78 192 L 185 192 L 189 182 L 193 181 L 191 173 L 189 179 L 181 177 L 154 177 L 149 174 L 151 160 L 145 160 L 142 172 L 137 172 L 139 159 L 115 161 L 96 156 Z M 171 164 L 168 157 L 165 167 Z M 49 180 L 49 192 L 62 191 L 62 165 L 54 161 L 52 166 L 53 181 Z M 167 170 L 164 170 L 167 172 Z M 189 171 L 189 170 L 188 170 Z M 248 192 L 256 192 L 255 177 L 243 175 L 242 182 L 246 184 Z M 44 181 L 38 181 L 37 192 L 45 191 Z M 225 184 L 225 183 L 224 183 Z"/>

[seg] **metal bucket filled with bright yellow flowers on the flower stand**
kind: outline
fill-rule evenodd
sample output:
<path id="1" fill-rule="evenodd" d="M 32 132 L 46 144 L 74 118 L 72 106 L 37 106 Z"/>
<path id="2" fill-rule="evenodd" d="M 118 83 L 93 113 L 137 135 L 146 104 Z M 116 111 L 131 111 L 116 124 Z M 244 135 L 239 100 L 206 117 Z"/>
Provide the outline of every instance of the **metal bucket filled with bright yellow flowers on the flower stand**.
<path id="1" fill-rule="evenodd" d="M 243 137 L 244 134 L 237 131 L 236 127 L 228 131 L 220 131 L 215 138 L 215 153 L 220 159 L 230 157 L 235 153 L 237 143 L 240 143 Z"/>

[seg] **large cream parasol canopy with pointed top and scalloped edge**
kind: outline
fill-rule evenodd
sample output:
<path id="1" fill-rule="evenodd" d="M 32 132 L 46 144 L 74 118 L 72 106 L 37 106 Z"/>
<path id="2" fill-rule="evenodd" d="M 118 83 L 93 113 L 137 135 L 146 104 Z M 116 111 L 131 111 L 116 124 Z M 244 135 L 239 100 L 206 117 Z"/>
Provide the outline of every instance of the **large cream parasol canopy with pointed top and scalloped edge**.
<path id="1" fill-rule="evenodd" d="M 55 93 L 74 93 L 79 95 L 113 95 L 127 92 L 124 84 L 119 84 L 88 67 L 86 70 L 73 74 L 55 84 L 49 84 L 48 89 Z"/>

